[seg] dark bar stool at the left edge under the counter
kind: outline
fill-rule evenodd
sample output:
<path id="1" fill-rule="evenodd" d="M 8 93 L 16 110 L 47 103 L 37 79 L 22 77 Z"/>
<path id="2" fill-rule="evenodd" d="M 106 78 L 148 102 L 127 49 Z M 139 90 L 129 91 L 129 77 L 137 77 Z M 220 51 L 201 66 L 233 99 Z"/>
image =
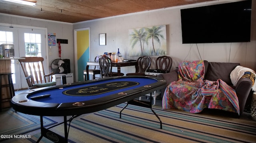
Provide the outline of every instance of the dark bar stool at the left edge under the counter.
<path id="1" fill-rule="evenodd" d="M 9 87 L 10 90 L 10 98 L 12 98 L 15 93 L 14 93 L 14 87 L 13 87 L 13 83 L 12 83 L 12 74 L 13 73 L 8 73 L 8 72 L 3 72 L 0 73 L 0 94 L 1 94 L 1 98 L 0 98 L 0 111 L 2 111 L 2 88 L 3 87 Z M 2 85 L 2 76 L 8 76 L 8 84 L 3 84 Z M 10 98 L 4 98 L 4 99 L 10 99 Z"/>

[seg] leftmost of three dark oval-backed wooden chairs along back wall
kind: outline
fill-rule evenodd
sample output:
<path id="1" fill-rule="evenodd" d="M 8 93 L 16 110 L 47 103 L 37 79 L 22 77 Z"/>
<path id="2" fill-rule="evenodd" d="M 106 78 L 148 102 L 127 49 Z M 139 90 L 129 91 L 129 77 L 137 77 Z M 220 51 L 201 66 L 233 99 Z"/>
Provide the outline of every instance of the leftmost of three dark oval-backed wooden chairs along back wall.
<path id="1" fill-rule="evenodd" d="M 99 65 L 100 65 L 100 71 L 101 71 L 101 77 L 107 76 L 118 76 L 117 72 L 112 72 L 112 61 L 109 57 L 100 57 L 99 58 Z M 120 76 L 123 76 L 124 73 L 120 73 Z"/>

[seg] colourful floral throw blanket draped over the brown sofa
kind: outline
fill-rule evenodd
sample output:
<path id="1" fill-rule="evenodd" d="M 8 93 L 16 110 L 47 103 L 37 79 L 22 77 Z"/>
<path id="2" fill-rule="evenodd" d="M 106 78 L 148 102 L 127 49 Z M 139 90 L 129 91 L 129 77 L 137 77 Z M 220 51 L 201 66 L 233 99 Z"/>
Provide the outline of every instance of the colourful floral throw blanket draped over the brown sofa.
<path id="1" fill-rule="evenodd" d="M 177 108 L 191 113 L 204 108 L 240 114 L 236 91 L 224 81 L 203 80 L 204 61 L 184 61 L 178 67 L 178 80 L 171 82 L 164 93 L 162 108 Z"/>

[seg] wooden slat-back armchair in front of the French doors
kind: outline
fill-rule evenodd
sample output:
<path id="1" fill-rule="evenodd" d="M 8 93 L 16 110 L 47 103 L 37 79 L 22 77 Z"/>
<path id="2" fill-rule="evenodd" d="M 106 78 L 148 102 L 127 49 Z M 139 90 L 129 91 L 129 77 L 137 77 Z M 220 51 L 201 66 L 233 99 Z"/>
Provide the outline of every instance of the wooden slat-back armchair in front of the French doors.
<path id="1" fill-rule="evenodd" d="M 52 81 L 52 75 L 45 74 L 42 57 L 22 57 L 19 59 L 20 66 L 28 83 L 28 88 L 39 88 L 56 85 L 56 82 Z"/>

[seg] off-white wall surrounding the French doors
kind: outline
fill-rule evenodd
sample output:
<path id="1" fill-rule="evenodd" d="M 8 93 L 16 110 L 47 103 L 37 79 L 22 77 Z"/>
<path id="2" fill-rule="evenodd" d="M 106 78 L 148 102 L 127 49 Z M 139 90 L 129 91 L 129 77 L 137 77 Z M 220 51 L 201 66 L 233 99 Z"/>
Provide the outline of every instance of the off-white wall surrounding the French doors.
<path id="1" fill-rule="evenodd" d="M 4 26 L 17 26 L 17 27 L 44 27 L 47 28 L 47 32 L 56 33 L 56 39 L 68 39 L 68 44 L 61 45 L 61 59 L 70 59 L 71 72 L 74 73 L 74 37 L 73 37 L 73 25 L 64 22 L 55 22 L 50 20 L 41 20 L 35 18 L 27 18 L 20 16 L 12 16 L 8 14 L 0 14 L 0 23 Z M 0 24 L 1 25 L 1 24 Z M 46 35 L 47 40 L 47 35 Z M 49 65 L 54 59 L 58 57 L 58 44 L 48 48 L 48 59 L 46 59 Z"/>

